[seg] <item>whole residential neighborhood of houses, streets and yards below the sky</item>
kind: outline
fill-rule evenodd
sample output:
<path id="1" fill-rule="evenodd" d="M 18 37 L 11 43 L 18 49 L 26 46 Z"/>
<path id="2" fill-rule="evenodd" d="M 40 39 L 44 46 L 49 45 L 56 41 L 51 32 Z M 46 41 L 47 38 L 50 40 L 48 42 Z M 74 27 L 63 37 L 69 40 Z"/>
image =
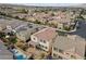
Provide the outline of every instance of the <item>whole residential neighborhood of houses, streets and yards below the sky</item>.
<path id="1" fill-rule="evenodd" d="M 86 9 L 1 3 L 0 60 L 86 60 Z"/>

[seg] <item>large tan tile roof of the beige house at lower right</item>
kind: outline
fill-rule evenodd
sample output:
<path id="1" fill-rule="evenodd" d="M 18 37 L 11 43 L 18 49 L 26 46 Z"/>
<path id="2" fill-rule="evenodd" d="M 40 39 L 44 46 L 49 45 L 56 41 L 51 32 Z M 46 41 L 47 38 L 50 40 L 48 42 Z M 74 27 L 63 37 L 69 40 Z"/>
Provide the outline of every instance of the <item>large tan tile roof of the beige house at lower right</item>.
<path id="1" fill-rule="evenodd" d="M 78 55 L 84 56 L 85 54 L 85 39 L 76 36 L 75 39 L 63 37 L 63 36 L 58 36 L 56 38 L 56 41 L 53 43 L 53 47 L 59 48 L 61 50 L 70 50 L 72 48 L 75 49 L 75 53 Z"/>

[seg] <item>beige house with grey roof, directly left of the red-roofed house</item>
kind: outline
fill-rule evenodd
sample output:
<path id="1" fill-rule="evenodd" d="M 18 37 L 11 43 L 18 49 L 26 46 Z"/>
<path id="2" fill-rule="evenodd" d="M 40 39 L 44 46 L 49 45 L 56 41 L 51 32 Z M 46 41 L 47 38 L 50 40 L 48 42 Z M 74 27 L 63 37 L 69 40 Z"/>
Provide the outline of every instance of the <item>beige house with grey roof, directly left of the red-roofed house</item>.
<path id="1" fill-rule="evenodd" d="M 42 26 L 27 23 L 21 27 L 16 28 L 16 37 L 23 41 L 26 41 L 30 38 L 30 35 L 42 29 Z"/>

